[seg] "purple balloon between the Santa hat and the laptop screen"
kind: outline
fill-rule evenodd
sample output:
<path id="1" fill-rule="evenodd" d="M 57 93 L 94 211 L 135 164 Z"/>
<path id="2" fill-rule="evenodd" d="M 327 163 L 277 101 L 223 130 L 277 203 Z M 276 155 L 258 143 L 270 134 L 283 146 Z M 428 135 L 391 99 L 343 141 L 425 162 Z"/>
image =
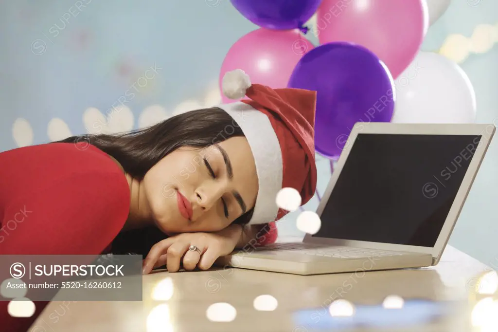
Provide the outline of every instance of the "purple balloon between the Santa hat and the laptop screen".
<path id="1" fill-rule="evenodd" d="M 357 122 L 389 122 L 394 82 L 385 65 L 368 49 L 352 43 L 328 43 L 306 53 L 288 87 L 317 91 L 315 149 L 336 158 Z"/>

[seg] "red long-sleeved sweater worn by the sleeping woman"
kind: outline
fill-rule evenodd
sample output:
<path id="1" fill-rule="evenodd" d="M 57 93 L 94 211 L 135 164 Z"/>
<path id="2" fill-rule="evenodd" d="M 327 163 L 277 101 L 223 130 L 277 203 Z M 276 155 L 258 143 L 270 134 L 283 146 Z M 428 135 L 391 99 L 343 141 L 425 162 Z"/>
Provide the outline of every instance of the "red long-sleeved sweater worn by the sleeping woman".
<path id="1" fill-rule="evenodd" d="M 99 255 L 128 212 L 123 171 L 93 146 L 51 143 L 0 153 L 0 255 Z M 258 245 L 275 242 L 274 223 L 268 228 Z M 7 278 L 0 271 L 0 283 Z M 0 300 L 0 331 L 9 332 L 26 331 L 48 303 L 35 302 L 30 318 L 12 319 L 9 300 Z"/>

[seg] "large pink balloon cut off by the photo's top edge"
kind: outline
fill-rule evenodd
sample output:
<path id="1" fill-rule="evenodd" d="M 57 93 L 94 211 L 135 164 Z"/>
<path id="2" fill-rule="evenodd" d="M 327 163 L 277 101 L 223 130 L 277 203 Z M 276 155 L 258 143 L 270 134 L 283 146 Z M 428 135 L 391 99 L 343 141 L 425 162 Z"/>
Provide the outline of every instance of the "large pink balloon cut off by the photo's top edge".
<path id="1" fill-rule="evenodd" d="M 349 41 L 367 47 L 396 78 L 418 53 L 427 27 L 425 0 L 323 0 L 316 33 L 321 44 Z"/>

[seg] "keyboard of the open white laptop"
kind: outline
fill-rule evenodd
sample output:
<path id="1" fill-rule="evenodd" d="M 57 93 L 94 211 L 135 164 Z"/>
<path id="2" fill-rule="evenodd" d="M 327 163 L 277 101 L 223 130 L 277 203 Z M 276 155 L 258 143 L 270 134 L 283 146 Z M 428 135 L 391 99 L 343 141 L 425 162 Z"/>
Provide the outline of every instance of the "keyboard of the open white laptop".
<path id="1" fill-rule="evenodd" d="M 304 242 L 273 243 L 256 249 L 256 251 L 260 250 L 261 251 L 278 250 L 278 252 L 336 257 L 336 258 L 363 258 L 363 257 L 372 257 L 372 256 L 384 257 L 384 256 L 401 256 L 403 254 L 406 254 L 397 251 L 352 248 L 352 247 L 336 247 L 336 246 L 326 246 L 326 245 L 304 243 Z"/>

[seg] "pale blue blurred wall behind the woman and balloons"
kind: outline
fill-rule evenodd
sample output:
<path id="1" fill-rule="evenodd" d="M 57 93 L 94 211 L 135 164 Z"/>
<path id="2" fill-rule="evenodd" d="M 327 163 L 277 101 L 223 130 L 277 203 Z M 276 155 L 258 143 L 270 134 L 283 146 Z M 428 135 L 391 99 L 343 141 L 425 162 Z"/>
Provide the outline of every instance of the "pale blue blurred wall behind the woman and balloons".
<path id="1" fill-rule="evenodd" d="M 75 12 L 76 2 L 2 1 L 0 151 L 16 147 L 12 124 L 17 118 L 31 124 L 33 144 L 49 141 L 47 124 L 54 117 L 64 120 L 73 134 L 84 133 L 83 111 L 97 107 L 104 113 L 129 88 L 129 82 L 115 74 L 123 59 L 129 59 L 138 73 L 154 63 L 163 68 L 153 88 L 126 105 L 135 119 L 152 104 L 172 111 L 185 100 L 203 98 L 208 87 L 216 84 L 231 45 L 256 28 L 228 0 L 83 0 L 86 7 L 76 10 L 77 16 L 71 16 L 64 26 L 61 17 L 71 6 Z M 423 50 L 437 51 L 450 33 L 470 37 L 476 25 L 497 22 L 498 1 L 482 0 L 471 7 L 465 0 L 453 0 L 430 27 Z M 75 46 L 78 31 L 88 33 L 84 48 Z M 316 38 L 309 34 L 308 38 L 316 44 Z M 42 55 L 31 51 L 37 39 L 42 41 L 35 47 L 46 44 Z M 497 60 L 498 47 L 494 47 L 461 64 L 476 91 L 478 123 L 491 123 L 498 117 Z M 330 168 L 327 160 L 318 159 L 318 188 L 323 193 Z M 498 256 L 497 185 L 495 139 L 450 239 L 450 244 L 487 264 Z M 305 208 L 313 210 L 317 203 L 313 198 Z M 281 235 L 300 234 L 295 217 L 293 213 L 280 223 Z"/>

